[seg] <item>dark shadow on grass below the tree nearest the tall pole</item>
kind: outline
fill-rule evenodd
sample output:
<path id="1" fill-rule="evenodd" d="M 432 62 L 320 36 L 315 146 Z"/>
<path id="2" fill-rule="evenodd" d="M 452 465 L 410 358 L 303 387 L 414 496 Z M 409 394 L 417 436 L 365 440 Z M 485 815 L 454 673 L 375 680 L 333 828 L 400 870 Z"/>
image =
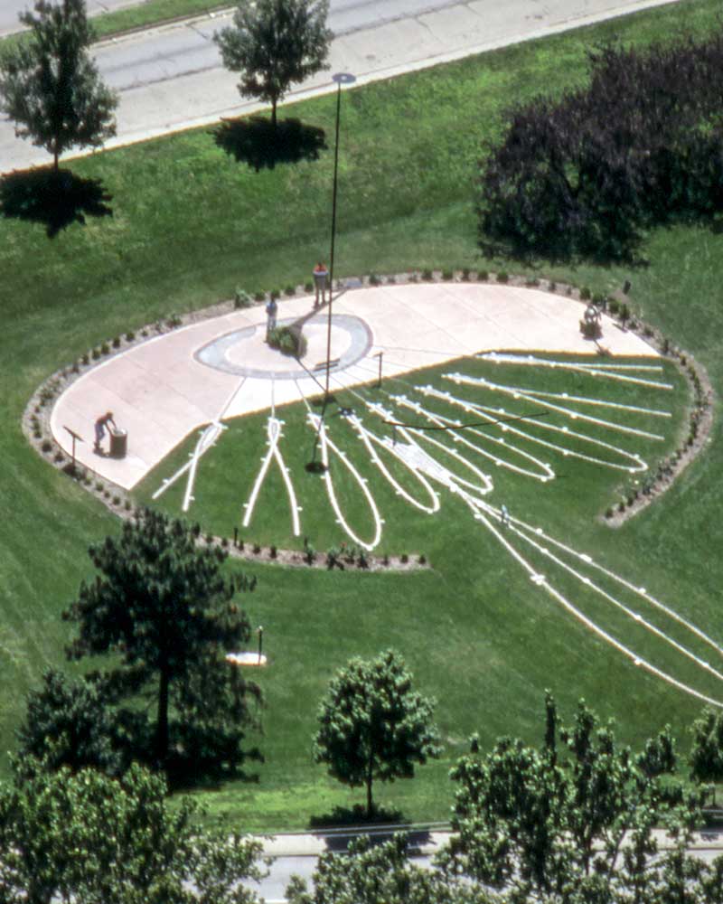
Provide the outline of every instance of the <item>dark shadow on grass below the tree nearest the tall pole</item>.
<path id="1" fill-rule="evenodd" d="M 299 119 L 279 119 L 276 127 L 263 117 L 225 119 L 211 135 L 228 155 L 257 173 L 277 164 L 318 160 L 326 149 L 324 129 L 305 126 Z"/>

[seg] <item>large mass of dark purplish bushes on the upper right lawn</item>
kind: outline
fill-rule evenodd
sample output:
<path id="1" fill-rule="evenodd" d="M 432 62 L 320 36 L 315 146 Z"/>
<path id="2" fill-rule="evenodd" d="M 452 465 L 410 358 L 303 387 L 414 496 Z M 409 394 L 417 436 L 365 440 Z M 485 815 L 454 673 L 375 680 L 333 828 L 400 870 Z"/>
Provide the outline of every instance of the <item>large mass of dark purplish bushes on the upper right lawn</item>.
<path id="1" fill-rule="evenodd" d="M 481 164 L 484 250 L 629 259 L 644 229 L 723 207 L 723 32 L 589 63 L 587 88 L 515 109 Z"/>

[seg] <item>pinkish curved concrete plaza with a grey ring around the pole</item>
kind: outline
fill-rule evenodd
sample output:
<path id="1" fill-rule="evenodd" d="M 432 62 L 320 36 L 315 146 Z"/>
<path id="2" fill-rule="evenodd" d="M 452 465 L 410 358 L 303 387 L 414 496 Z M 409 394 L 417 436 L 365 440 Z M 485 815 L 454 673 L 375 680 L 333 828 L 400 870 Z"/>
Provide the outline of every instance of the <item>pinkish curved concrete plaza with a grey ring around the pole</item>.
<path id="1" fill-rule="evenodd" d="M 279 324 L 312 311 L 311 297 L 278 306 Z M 406 284 L 343 292 L 333 303 L 334 388 L 481 352 L 595 355 L 583 339 L 584 306 L 534 288 L 473 283 Z M 234 311 L 156 336 L 84 373 L 52 410 L 52 434 L 70 455 L 132 489 L 193 429 L 317 395 L 324 384 L 327 312 L 307 320 L 301 363 L 269 349 L 263 306 Z M 655 357 L 653 348 L 603 317 L 600 344 L 612 355 Z M 112 411 L 128 433 L 127 456 L 93 451 L 93 425 Z"/>

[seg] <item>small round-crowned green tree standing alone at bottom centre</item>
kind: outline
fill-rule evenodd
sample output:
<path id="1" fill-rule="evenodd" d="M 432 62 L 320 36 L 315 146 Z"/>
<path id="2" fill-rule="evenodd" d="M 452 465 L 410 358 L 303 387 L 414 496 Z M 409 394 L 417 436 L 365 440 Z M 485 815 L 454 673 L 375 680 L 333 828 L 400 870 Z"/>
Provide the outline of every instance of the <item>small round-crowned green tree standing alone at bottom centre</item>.
<path id="1" fill-rule="evenodd" d="M 373 812 L 374 779 L 411 778 L 415 763 L 439 756 L 432 724 L 435 702 L 412 690 L 394 650 L 371 661 L 352 659 L 333 677 L 319 708 L 314 757 L 345 785 L 366 786 Z"/>

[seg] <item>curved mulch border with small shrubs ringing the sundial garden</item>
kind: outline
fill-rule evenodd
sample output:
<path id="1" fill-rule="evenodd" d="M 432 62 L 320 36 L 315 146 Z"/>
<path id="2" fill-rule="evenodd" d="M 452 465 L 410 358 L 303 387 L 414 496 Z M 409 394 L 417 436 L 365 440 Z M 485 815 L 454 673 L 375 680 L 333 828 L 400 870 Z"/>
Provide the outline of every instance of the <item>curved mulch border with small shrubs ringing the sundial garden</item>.
<path id="1" fill-rule="evenodd" d="M 511 275 L 504 271 L 498 273 L 488 273 L 486 270 L 417 270 L 410 269 L 406 273 L 390 274 L 387 276 L 379 276 L 370 274 L 362 278 L 347 278 L 337 281 L 337 289 L 343 288 L 361 288 L 374 286 L 393 286 L 408 285 L 416 283 L 439 283 L 439 282 L 470 282 L 496 284 L 505 286 L 516 286 L 526 288 L 539 288 L 557 295 L 567 295 L 575 301 L 587 304 L 591 294 L 585 287 L 578 288 L 569 286 L 564 283 L 557 283 L 549 279 L 539 279 L 524 276 Z M 286 291 L 286 297 L 297 297 L 299 295 L 308 295 L 308 288 L 297 286 L 294 295 L 290 294 L 290 289 Z M 65 470 L 66 473 L 70 469 L 70 461 L 66 454 L 57 446 L 52 438 L 50 428 L 50 417 L 52 410 L 52 402 L 65 391 L 71 383 L 76 381 L 82 374 L 88 372 L 90 368 L 95 367 L 99 361 L 112 356 L 126 352 L 129 348 L 137 344 L 146 342 L 146 339 L 153 336 L 169 333 L 181 326 L 187 326 L 210 320 L 213 317 L 228 315 L 234 310 L 239 310 L 249 306 L 264 306 L 272 293 L 258 293 L 255 299 L 245 292 L 237 292 L 236 300 L 228 300 L 217 303 L 215 305 L 202 308 L 199 311 L 193 311 L 186 315 L 168 315 L 163 320 L 158 320 L 155 324 L 146 325 L 137 331 L 129 331 L 90 349 L 80 359 L 69 366 L 53 373 L 48 377 L 33 393 L 23 412 L 23 433 L 30 445 L 35 451 L 53 466 Z M 278 297 L 279 293 L 273 293 Z M 607 310 L 611 302 L 618 307 L 624 309 L 627 314 L 627 306 L 621 305 L 618 298 L 601 298 L 594 296 L 593 300 L 601 303 L 606 314 L 612 316 Z M 323 310 L 324 306 L 318 308 Z M 318 313 L 317 312 L 315 313 Z M 665 459 L 658 467 L 656 474 L 652 480 L 643 484 L 639 490 L 634 490 L 627 494 L 623 500 L 617 505 L 607 509 L 605 515 L 602 516 L 604 523 L 611 527 L 619 527 L 626 522 L 628 518 L 641 512 L 649 504 L 653 502 L 660 494 L 664 493 L 681 475 L 682 471 L 690 465 L 706 444 L 713 419 L 713 389 L 709 381 L 708 373 L 705 368 L 695 362 L 692 356 L 683 352 L 677 346 L 673 346 L 669 341 L 663 338 L 662 334 L 653 330 L 651 327 L 644 325 L 642 321 L 629 315 L 618 323 L 623 329 L 629 329 L 640 335 L 646 342 L 652 344 L 658 352 L 663 356 L 671 358 L 677 363 L 679 370 L 685 376 L 689 383 L 693 403 L 688 412 L 688 433 L 681 438 L 681 445 L 672 453 L 670 457 Z M 134 505 L 128 494 L 108 481 L 96 475 L 90 468 L 83 468 L 80 475 L 82 482 L 90 493 L 94 494 L 100 502 L 105 504 L 108 509 L 117 514 L 119 517 L 127 518 L 133 513 Z M 221 542 L 221 538 L 216 538 Z M 231 549 L 229 548 L 231 552 Z M 282 554 L 283 553 L 283 554 Z M 276 559 L 272 559 L 268 551 L 254 553 L 241 553 L 234 551 L 234 556 L 239 558 L 250 558 L 260 561 L 279 561 L 287 565 L 305 565 L 310 567 L 304 561 L 304 555 L 296 551 L 277 551 Z M 394 569 L 394 570 L 410 570 L 410 568 L 425 567 L 424 565 L 410 565 L 409 562 L 402 563 L 399 557 L 390 557 L 389 566 L 383 565 L 382 560 L 378 557 L 369 557 L 370 565 L 373 560 L 371 570 Z M 325 568 L 324 555 L 319 556 L 319 560 L 315 562 L 317 568 Z"/>

